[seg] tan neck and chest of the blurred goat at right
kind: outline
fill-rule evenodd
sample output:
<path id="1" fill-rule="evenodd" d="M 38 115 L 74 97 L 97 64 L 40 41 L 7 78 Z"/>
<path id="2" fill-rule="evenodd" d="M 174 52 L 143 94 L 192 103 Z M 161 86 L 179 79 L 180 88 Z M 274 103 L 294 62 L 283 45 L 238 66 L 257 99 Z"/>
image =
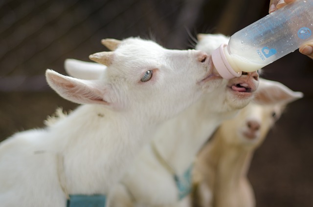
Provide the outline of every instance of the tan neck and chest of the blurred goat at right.
<path id="1" fill-rule="evenodd" d="M 246 181 L 246 174 L 253 155 L 252 149 L 227 144 L 221 139 L 221 136 L 218 130 L 210 144 L 210 152 L 208 152 L 211 153 L 211 162 L 216 164 L 213 170 L 214 184 L 211 186 L 214 192 L 215 207 L 240 204 L 239 200 L 244 193 L 241 189 L 245 189 L 241 185 L 249 185 Z M 234 202 L 236 200 L 237 202 Z"/>

